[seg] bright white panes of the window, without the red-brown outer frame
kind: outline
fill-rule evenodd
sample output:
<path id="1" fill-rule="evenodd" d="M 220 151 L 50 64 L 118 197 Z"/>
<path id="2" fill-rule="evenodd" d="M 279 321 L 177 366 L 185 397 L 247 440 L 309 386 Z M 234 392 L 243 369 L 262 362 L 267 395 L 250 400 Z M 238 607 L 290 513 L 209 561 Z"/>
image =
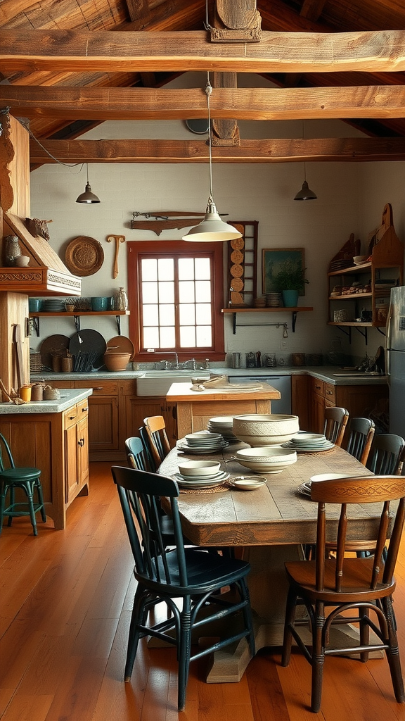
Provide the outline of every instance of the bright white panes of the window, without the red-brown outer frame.
<path id="1" fill-rule="evenodd" d="M 141 257 L 141 347 L 211 348 L 210 257 Z"/>

